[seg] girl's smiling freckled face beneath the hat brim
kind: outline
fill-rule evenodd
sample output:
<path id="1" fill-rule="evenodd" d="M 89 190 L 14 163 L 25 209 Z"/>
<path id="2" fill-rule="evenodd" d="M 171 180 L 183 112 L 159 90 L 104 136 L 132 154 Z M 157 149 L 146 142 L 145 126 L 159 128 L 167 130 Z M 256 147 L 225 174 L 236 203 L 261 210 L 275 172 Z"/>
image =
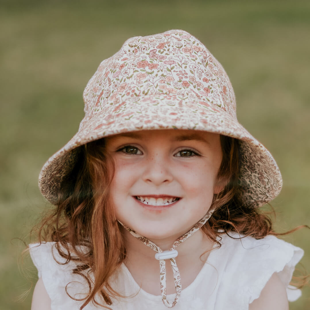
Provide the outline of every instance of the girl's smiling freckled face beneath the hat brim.
<path id="1" fill-rule="evenodd" d="M 111 195 L 116 217 L 155 241 L 192 228 L 209 210 L 222 161 L 220 135 L 151 130 L 106 138 L 115 161 Z"/>

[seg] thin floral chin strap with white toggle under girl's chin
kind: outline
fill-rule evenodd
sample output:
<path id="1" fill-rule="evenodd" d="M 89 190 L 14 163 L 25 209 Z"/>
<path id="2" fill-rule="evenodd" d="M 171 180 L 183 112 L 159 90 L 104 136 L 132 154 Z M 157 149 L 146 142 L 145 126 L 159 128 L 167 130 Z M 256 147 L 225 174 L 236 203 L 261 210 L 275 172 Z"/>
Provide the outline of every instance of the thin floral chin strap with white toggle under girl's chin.
<path id="1" fill-rule="evenodd" d="M 163 251 L 159 246 L 157 246 L 152 241 L 148 240 L 147 238 L 139 235 L 134 230 L 129 228 L 128 226 L 124 225 L 122 222 L 118 221 L 120 224 L 124 226 L 134 237 L 136 237 L 138 240 L 140 240 L 142 243 L 144 243 L 146 246 L 157 252 L 155 254 L 155 259 L 159 260 L 159 267 L 160 267 L 160 287 L 161 287 L 161 293 L 162 293 L 162 302 L 167 308 L 173 308 L 180 296 L 181 296 L 181 277 L 179 268 L 176 265 L 175 258 L 178 256 L 178 251 L 175 250 L 177 246 L 179 246 L 182 242 L 184 242 L 188 237 L 193 235 L 194 232 L 196 232 L 198 229 L 200 229 L 208 219 L 210 219 L 212 213 L 214 210 L 210 210 L 207 212 L 207 214 L 188 232 L 184 233 L 181 237 L 179 237 L 173 245 L 170 247 L 170 250 Z M 167 300 L 167 287 L 166 287 L 166 262 L 165 259 L 170 259 L 171 268 L 173 272 L 173 277 L 175 281 L 175 300 L 172 303 L 169 303 Z"/>

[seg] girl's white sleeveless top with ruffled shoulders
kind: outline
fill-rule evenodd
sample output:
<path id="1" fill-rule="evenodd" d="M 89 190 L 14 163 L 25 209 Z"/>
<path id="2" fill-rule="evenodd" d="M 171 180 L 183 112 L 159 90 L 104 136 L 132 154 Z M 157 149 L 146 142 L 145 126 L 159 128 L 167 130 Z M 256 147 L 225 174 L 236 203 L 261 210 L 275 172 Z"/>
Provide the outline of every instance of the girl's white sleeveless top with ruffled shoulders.
<path id="1" fill-rule="evenodd" d="M 238 238 L 238 235 L 232 234 Z M 42 277 L 44 286 L 51 298 L 52 310 L 79 309 L 82 302 L 71 299 L 69 294 L 77 299 L 88 291 L 86 281 L 78 275 L 73 275 L 75 262 L 65 262 L 60 257 L 53 242 L 30 244 L 30 255 Z M 256 240 L 252 237 L 232 239 L 222 236 L 222 246 L 214 248 L 198 273 L 195 280 L 181 292 L 175 310 L 248 310 L 249 304 L 257 299 L 274 272 L 287 288 L 289 301 L 298 299 L 300 290 L 289 285 L 294 267 L 303 256 L 303 250 L 274 236 Z M 53 257 L 54 255 L 54 257 Z M 125 296 L 136 294 L 132 298 L 112 299 L 113 310 L 167 310 L 162 303 L 162 296 L 155 296 L 140 289 L 125 264 L 121 265 L 111 281 L 113 288 Z M 159 285 L 159 283 L 158 283 Z M 84 295 L 85 296 L 85 295 Z M 167 296 L 168 301 L 174 300 L 174 294 Z M 95 310 L 89 303 L 84 309 Z M 102 309 L 102 308 L 100 308 Z"/>

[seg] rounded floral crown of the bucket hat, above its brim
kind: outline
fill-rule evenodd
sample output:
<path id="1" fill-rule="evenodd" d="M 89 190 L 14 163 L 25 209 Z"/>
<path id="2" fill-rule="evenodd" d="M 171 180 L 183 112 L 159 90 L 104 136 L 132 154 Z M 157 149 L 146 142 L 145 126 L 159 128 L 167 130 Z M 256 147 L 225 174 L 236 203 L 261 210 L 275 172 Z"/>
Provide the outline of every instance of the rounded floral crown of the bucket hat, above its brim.
<path id="1" fill-rule="evenodd" d="M 103 60 L 84 92 L 85 118 L 130 114 L 130 104 L 192 105 L 223 109 L 236 118 L 236 100 L 228 75 L 210 51 L 183 30 L 128 39 Z M 136 100 L 134 100 L 136 99 Z M 190 103 L 191 102 L 191 103 Z M 177 112 L 177 111 L 176 111 Z M 108 121 L 108 119 L 107 119 Z"/>

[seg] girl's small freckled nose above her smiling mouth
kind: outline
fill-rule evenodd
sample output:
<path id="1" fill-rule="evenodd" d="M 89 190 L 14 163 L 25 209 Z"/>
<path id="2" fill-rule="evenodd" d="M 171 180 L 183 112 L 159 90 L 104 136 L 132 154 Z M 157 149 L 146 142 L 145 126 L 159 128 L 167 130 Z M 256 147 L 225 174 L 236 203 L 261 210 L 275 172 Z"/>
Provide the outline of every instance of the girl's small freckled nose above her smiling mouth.
<path id="1" fill-rule="evenodd" d="M 145 163 L 142 179 L 144 182 L 154 185 L 170 183 L 173 180 L 173 175 L 167 159 L 158 153 L 150 156 Z"/>

